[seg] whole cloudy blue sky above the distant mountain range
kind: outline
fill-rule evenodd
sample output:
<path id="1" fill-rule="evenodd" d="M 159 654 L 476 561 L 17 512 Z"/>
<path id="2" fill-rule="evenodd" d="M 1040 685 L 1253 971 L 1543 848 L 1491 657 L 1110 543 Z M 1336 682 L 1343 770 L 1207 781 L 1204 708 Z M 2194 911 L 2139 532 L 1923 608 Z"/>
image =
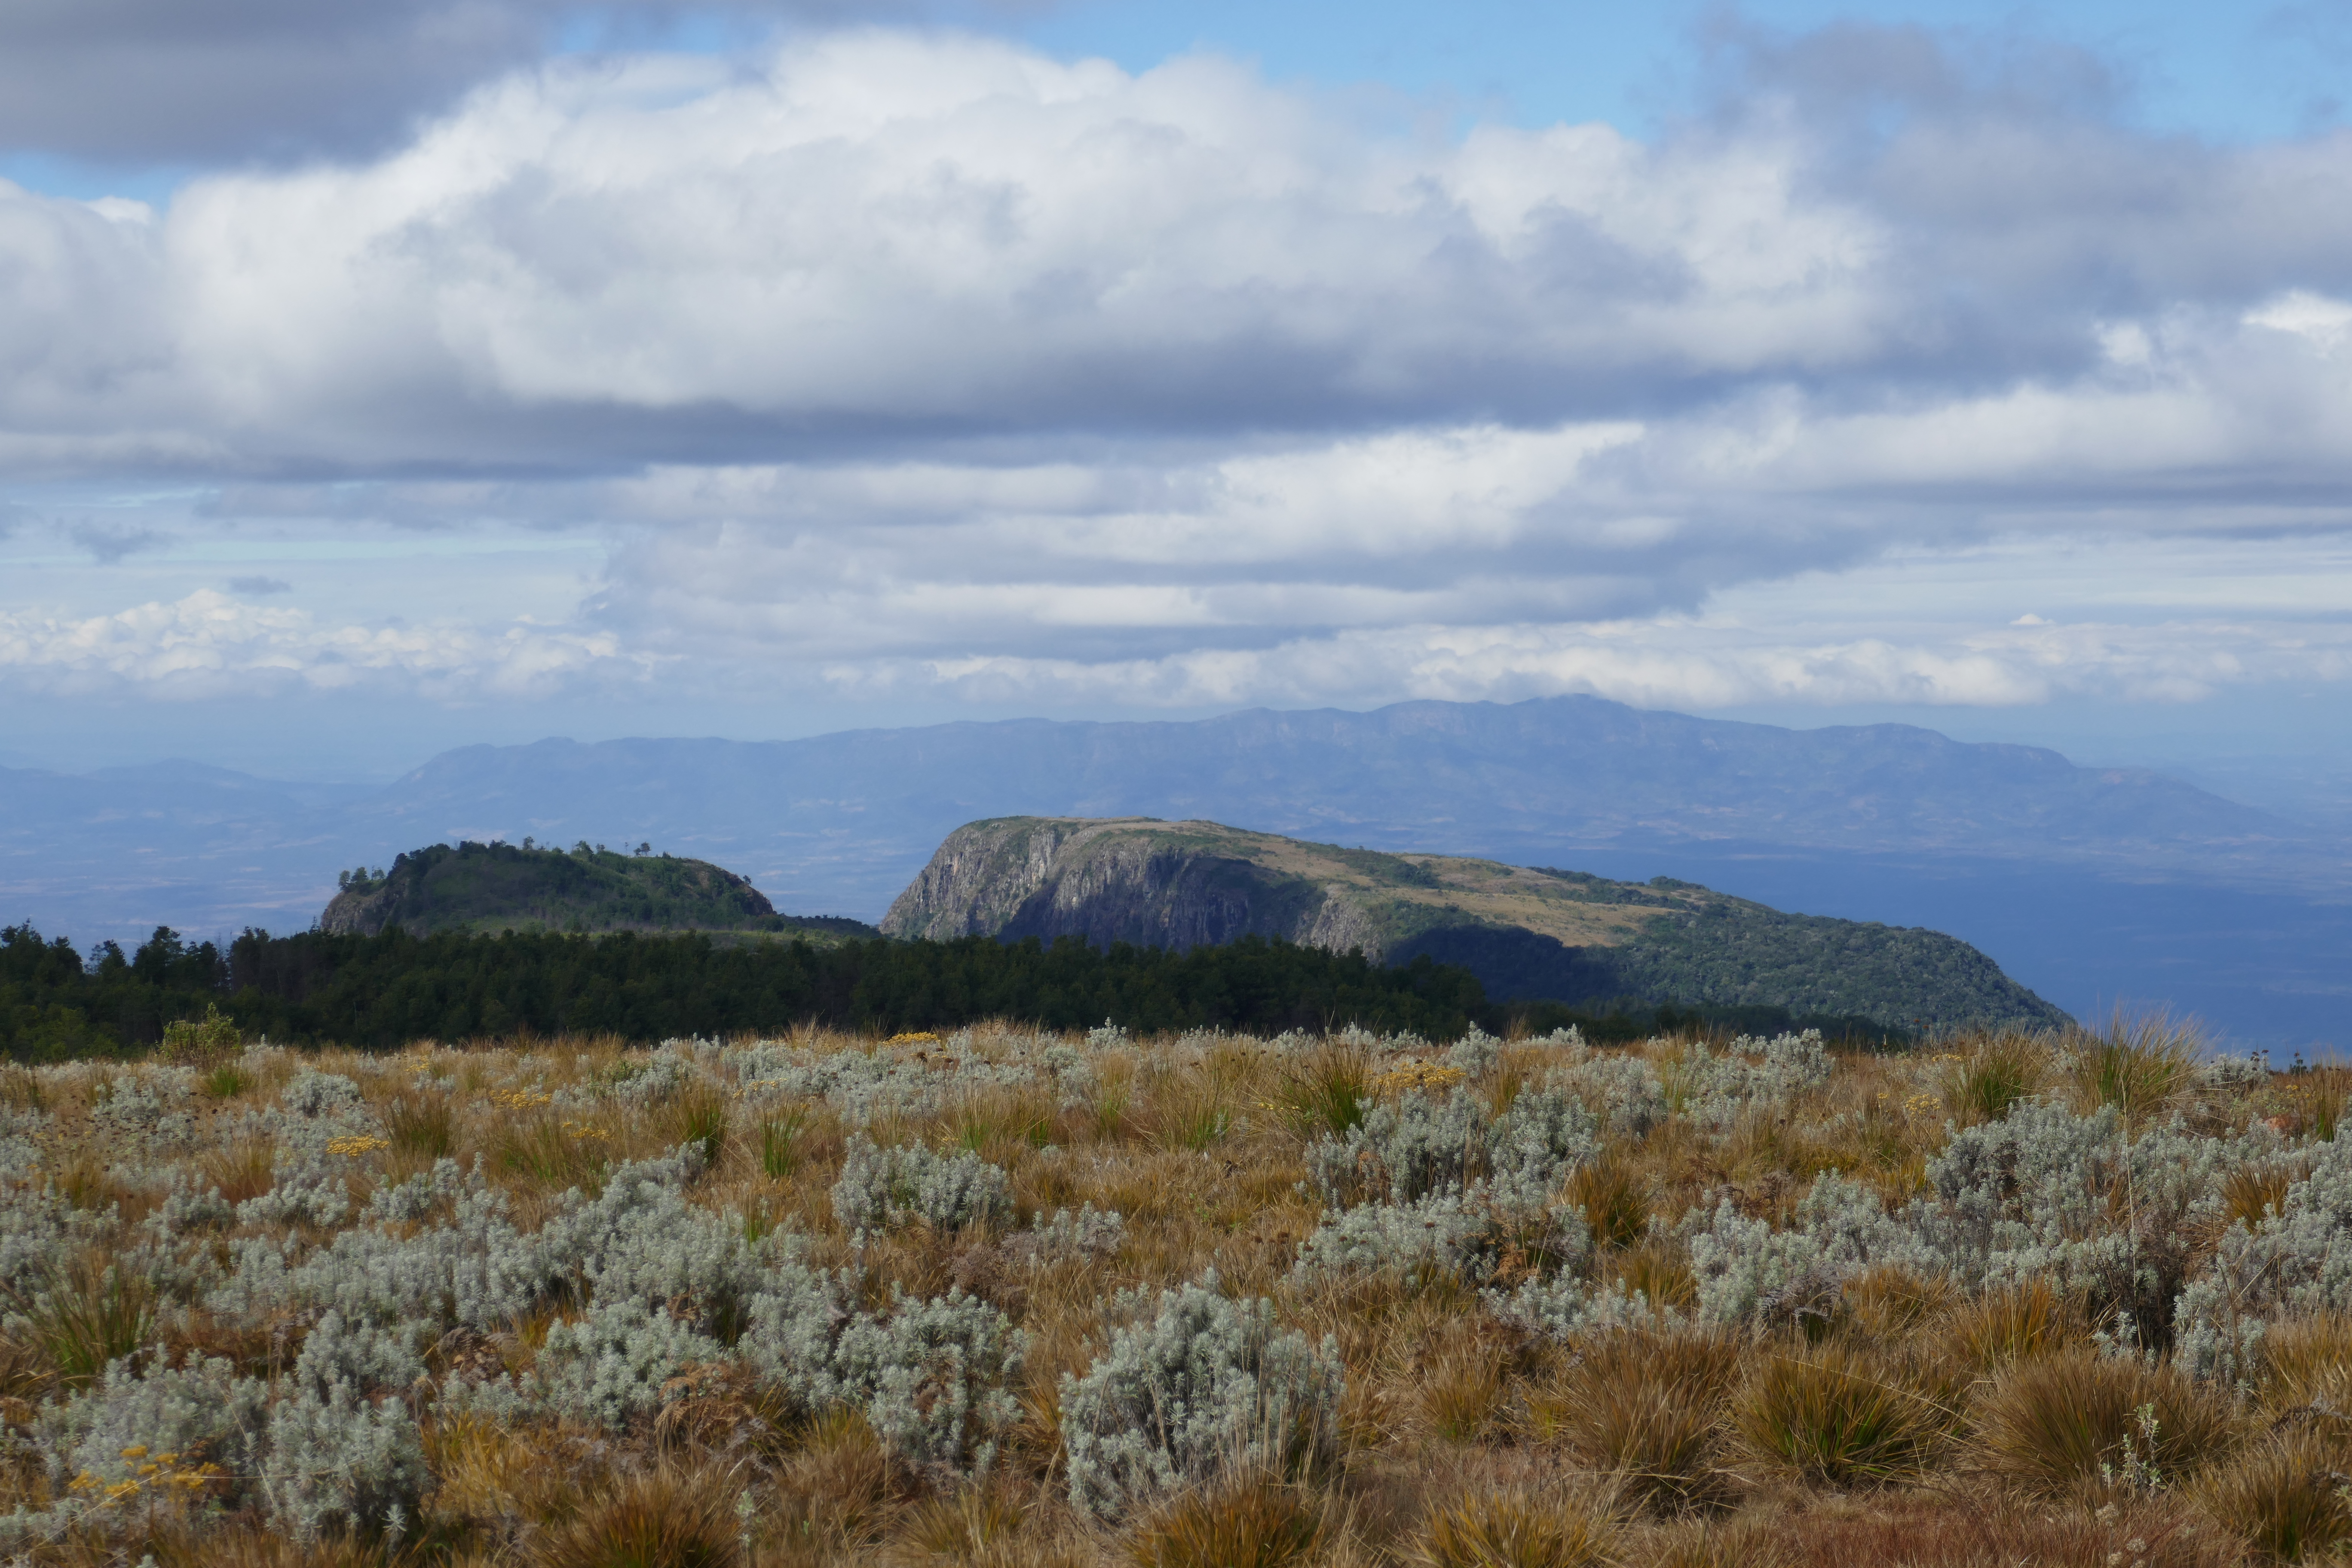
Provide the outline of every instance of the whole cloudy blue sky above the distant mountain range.
<path id="1" fill-rule="evenodd" d="M 0 766 L 1590 691 L 2352 823 L 2352 5 L 26 0 Z"/>

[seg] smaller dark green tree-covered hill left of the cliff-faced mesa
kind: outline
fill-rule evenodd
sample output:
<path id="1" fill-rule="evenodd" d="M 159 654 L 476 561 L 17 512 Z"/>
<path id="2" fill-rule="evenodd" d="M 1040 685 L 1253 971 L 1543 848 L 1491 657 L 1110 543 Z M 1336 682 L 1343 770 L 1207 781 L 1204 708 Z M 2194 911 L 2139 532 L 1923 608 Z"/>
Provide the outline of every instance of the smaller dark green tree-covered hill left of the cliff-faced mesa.
<path id="1" fill-rule="evenodd" d="M 612 849 L 539 849 L 463 842 L 428 844 L 390 870 L 339 877 L 341 891 L 320 931 L 409 936 L 442 931 L 743 931 L 800 938 L 873 936 L 854 919 L 793 917 L 746 877 L 708 860 Z"/>

